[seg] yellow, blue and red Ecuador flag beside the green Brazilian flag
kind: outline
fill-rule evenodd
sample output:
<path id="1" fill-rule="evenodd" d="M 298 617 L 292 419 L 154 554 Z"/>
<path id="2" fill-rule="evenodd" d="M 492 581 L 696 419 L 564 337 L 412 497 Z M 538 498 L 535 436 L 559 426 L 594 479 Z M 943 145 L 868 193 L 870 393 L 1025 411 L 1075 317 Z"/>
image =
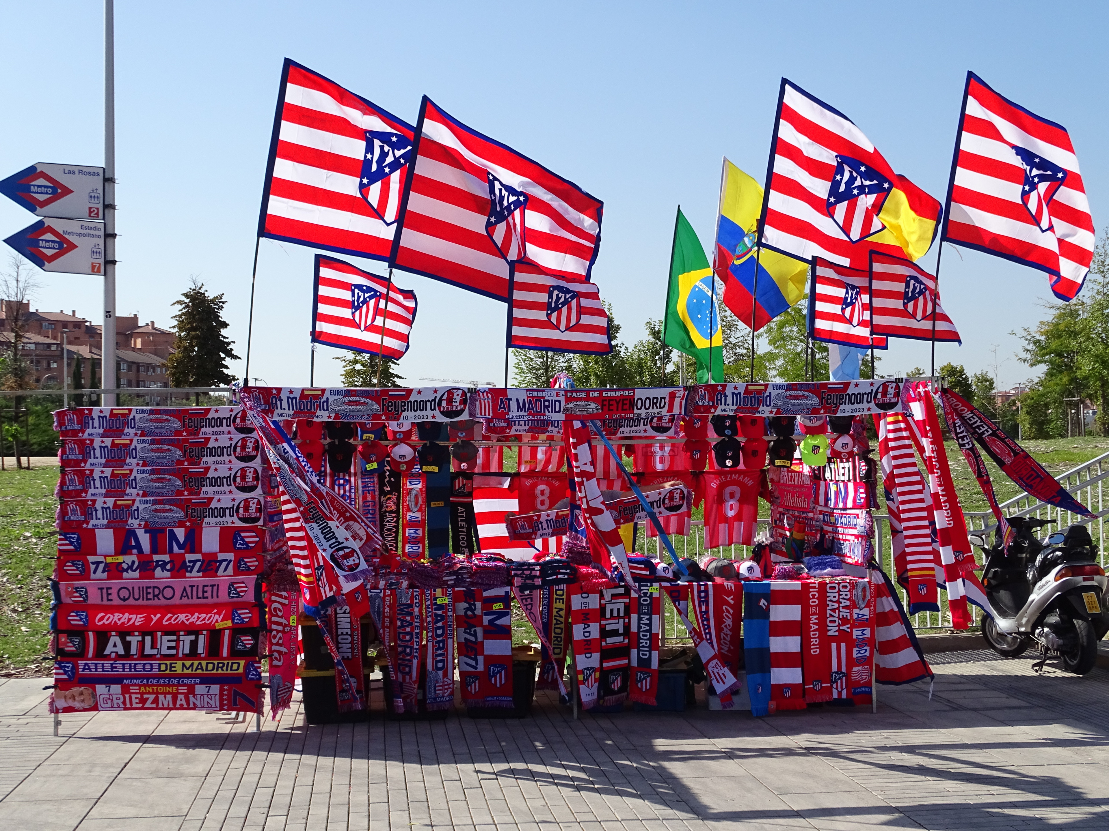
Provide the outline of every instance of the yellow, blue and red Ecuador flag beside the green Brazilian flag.
<path id="1" fill-rule="evenodd" d="M 751 326 L 755 298 L 755 331 L 805 296 L 807 264 L 763 248 L 755 286 L 755 244 L 763 189 L 751 176 L 724 160 L 716 218 L 715 271 L 724 284 L 724 305 Z M 757 296 L 755 291 L 757 290 Z"/>

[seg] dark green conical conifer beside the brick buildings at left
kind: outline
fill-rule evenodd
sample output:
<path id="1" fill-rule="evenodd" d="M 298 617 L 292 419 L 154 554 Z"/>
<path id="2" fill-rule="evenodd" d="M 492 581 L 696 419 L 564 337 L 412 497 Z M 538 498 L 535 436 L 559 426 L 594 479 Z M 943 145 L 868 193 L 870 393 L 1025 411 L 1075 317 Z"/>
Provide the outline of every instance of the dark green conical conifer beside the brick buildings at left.
<path id="1" fill-rule="evenodd" d="M 231 348 L 235 341 L 223 334 L 228 326 L 223 319 L 227 305 L 223 295 L 210 295 L 194 277 L 173 305 L 180 306 L 181 311 L 173 316 L 177 339 L 173 355 L 165 361 L 170 383 L 173 387 L 230 384 L 234 378 L 227 371 L 227 361 L 238 360 L 238 356 Z"/>

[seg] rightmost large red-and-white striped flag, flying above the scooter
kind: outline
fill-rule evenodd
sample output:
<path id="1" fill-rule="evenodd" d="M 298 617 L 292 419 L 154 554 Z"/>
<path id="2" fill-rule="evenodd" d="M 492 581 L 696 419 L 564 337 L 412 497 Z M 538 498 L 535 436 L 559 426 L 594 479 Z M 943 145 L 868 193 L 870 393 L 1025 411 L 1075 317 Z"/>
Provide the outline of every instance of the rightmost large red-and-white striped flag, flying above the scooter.
<path id="1" fill-rule="evenodd" d="M 1047 271 L 1072 300 L 1093 259 L 1093 218 L 1067 130 L 967 73 L 944 239 Z"/>

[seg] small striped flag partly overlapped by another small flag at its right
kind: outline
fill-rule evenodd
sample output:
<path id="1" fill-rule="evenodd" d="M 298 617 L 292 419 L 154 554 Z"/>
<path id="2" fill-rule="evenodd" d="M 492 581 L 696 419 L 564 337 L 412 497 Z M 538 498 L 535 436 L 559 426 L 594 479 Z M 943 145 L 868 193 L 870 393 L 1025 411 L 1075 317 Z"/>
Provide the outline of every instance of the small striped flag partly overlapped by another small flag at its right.
<path id="1" fill-rule="evenodd" d="M 808 288 L 808 331 L 813 340 L 871 348 L 871 275 L 813 257 Z M 888 349 L 876 337 L 875 349 Z"/>

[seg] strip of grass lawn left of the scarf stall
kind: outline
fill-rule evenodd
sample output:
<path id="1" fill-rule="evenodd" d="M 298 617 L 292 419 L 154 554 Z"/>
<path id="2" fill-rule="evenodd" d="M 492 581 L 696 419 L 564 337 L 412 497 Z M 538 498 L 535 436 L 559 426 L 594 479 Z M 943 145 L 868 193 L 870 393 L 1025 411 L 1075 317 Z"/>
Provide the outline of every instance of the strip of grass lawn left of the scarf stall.
<path id="1" fill-rule="evenodd" d="M 0 473 L 0 675 L 50 675 L 58 466 Z"/>

